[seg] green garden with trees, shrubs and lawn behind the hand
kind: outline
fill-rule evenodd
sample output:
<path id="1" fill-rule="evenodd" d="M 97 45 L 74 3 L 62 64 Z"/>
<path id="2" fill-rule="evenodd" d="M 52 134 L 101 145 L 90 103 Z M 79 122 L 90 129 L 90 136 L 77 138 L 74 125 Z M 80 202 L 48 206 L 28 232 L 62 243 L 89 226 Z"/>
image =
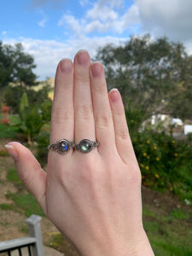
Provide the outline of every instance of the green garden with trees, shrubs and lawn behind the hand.
<path id="1" fill-rule="evenodd" d="M 124 47 L 108 45 L 98 49 L 96 58 L 105 66 L 109 89 L 118 87 L 125 102 L 142 172 L 143 224 L 154 254 L 187 256 L 192 255 L 192 136 L 174 137 L 175 125 L 152 125 L 151 117 L 166 113 L 192 119 L 192 57 L 182 44 L 166 38 L 149 41 L 144 36 L 131 38 Z M 47 81 L 37 82 L 32 56 L 20 44 L 0 44 L 0 55 L 0 65 L 9 70 L 0 73 L 0 240 L 26 236 L 25 219 L 38 214 L 43 217 L 44 244 L 67 256 L 78 255 L 20 182 L 3 147 L 10 141 L 23 143 L 46 170 L 53 88 Z M 13 67 L 8 68 L 10 60 Z"/>

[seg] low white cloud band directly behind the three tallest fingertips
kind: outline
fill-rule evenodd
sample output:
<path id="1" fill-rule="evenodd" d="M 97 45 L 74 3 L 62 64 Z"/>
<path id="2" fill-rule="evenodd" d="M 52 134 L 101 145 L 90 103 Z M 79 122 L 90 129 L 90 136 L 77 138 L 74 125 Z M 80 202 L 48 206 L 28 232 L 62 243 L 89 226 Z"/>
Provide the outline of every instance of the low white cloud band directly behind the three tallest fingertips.
<path id="1" fill-rule="evenodd" d="M 17 41 L 18 42 L 18 41 Z M 3 41 L 4 44 L 15 44 L 15 39 Z M 103 47 L 108 43 L 119 45 L 125 42 L 125 38 L 81 38 L 70 39 L 66 43 L 59 43 L 55 40 L 38 40 L 32 38 L 20 38 L 20 43 L 23 45 L 25 51 L 34 57 L 37 68 L 34 72 L 38 75 L 40 80 L 47 77 L 55 76 L 55 69 L 58 62 L 62 58 L 70 58 L 73 60 L 74 55 L 79 49 L 87 49 L 90 57 L 96 56 L 96 49 Z"/>

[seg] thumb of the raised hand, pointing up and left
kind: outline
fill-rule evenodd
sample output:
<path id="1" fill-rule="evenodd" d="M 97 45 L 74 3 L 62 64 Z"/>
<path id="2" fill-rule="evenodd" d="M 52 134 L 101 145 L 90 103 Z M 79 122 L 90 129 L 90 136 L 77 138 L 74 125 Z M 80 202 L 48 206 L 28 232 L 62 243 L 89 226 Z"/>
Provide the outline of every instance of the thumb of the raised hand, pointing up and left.
<path id="1" fill-rule="evenodd" d="M 5 148 L 15 161 L 21 182 L 25 184 L 26 189 L 32 193 L 40 207 L 46 212 L 46 172 L 41 168 L 32 152 L 20 143 L 9 143 L 5 145 Z"/>

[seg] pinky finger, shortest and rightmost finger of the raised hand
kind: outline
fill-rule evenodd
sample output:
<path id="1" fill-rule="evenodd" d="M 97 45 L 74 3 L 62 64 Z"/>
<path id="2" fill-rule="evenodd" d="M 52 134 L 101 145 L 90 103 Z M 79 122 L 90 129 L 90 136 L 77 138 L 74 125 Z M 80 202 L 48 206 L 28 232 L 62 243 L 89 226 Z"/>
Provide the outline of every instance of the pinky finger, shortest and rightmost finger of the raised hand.
<path id="1" fill-rule="evenodd" d="M 108 97 L 113 114 L 116 147 L 119 156 L 127 164 L 130 159 L 132 160 L 133 158 L 135 158 L 135 154 L 126 123 L 124 105 L 119 90 L 110 90 L 108 93 Z"/>

